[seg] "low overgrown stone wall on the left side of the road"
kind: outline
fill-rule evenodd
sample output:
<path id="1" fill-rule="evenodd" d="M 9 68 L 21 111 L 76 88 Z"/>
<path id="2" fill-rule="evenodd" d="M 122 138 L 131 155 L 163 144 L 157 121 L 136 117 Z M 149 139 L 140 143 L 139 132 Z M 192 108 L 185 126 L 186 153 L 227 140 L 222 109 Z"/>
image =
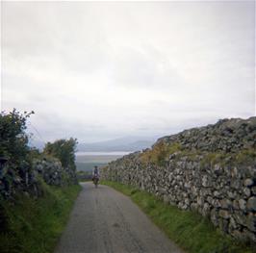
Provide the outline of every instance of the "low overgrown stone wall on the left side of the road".
<path id="1" fill-rule="evenodd" d="M 0 197 L 12 198 L 15 193 L 25 192 L 38 197 L 41 178 L 52 186 L 77 184 L 76 171 L 63 167 L 57 159 L 36 159 L 33 164 L 24 162 L 20 167 L 6 164 L 0 169 Z"/>

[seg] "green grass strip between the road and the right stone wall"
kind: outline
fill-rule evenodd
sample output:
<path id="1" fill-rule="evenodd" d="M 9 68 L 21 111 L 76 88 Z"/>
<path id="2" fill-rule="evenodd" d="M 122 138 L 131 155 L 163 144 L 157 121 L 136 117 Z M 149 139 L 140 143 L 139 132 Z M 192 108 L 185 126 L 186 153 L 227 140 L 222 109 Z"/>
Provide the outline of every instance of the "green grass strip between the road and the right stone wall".
<path id="1" fill-rule="evenodd" d="M 167 205 L 145 191 L 115 182 L 101 182 L 131 197 L 167 237 L 192 253 L 251 253 L 252 248 L 223 235 L 207 218 Z"/>

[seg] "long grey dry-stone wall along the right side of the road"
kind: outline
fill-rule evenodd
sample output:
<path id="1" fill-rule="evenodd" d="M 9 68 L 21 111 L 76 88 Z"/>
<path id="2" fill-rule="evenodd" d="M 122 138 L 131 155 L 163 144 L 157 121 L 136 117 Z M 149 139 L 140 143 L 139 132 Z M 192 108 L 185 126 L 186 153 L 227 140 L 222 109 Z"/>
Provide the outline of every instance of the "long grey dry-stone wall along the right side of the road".
<path id="1" fill-rule="evenodd" d="M 229 132 L 240 133 L 240 138 L 222 135 L 226 125 Z M 217 128 L 221 130 L 214 131 Z M 201 131 L 206 131 L 204 136 L 208 138 L 198 142 L 196 136 L 203 137 Z M 224 120 L 159 139 L 152 151 L 159 143 L 175 142 L 181 146 L 168 154 L 161 165 L 150 159 L 145 161 L 143 156 L 148 150 L 136 152 L 108 164 L 101 170 L 101 177 L 136 186 L 180 209 L 209 216 L 223 232 L 256 242 L 255 140 L 255 117 Z"/>

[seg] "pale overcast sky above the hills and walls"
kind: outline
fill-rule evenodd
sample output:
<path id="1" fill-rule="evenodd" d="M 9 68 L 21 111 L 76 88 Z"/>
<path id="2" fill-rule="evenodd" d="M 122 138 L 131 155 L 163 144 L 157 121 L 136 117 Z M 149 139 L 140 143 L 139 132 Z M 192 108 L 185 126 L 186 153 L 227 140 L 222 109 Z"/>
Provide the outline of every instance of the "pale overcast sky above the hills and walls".
<path id="1" fill-rule="evenodd" d="M 44 140 L 255 115 L 254 1 L 2 2 L 1 21 L 2 110 Z"/>

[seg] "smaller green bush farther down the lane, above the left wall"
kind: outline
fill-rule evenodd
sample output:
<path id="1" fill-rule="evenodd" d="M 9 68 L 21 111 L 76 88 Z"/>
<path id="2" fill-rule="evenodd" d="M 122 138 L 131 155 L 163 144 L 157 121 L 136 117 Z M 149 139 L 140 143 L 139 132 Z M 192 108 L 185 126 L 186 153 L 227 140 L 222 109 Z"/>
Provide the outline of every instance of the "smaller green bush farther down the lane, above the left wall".
<path id="1" fill-rule="evenodd" d="M 64 167 L 75 168 L 75 151 L 77 139 L 58 139 L 47 142 L 43 153 L 58 158 Z"/>

